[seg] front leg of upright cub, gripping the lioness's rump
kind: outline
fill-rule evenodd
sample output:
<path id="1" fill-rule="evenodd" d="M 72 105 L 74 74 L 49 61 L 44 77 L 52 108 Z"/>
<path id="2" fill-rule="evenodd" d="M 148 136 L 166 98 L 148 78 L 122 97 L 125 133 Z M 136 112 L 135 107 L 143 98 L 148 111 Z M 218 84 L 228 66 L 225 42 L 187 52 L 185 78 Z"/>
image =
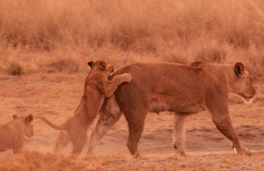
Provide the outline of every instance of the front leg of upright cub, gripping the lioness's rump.
<path id="1" fill-rule="evenodd" d="M 115 76 L 111 81 L 108 81 L 106 78 L 106 81 L 103 83 L 103 85 L 100 85 L 99 90 L 101 90 L 102 93 L 104 93 L 106 97 L 109 98 L 113 95 L 116 88 L 118 88 L 121 83 L 130 83 L 131 80 L 132 76 L 130 73 L 123 73 L 121 75 Z"/>

